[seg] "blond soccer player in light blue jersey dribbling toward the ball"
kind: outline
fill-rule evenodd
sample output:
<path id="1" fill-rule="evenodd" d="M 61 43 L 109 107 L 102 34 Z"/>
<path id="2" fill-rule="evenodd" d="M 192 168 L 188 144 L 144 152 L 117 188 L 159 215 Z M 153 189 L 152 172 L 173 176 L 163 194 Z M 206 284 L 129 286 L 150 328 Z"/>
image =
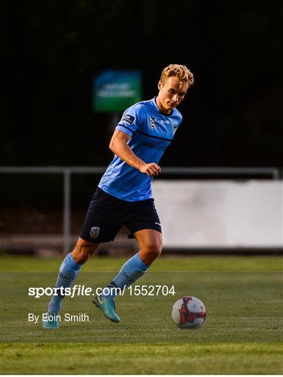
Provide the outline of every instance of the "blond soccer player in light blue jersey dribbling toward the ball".
<path id="1" fill-rule="evenodd" d="M 125 110 L 109 145 L 114 160 L 93 195 L 74 251 L 61 264 L 56 287 L 70 287 L 100 243 L 113 241 L 123 225 L 130 230 L 130 237 L 135 237 L 140 250 L 123 265 L 107 288 L 130 286 L 160 256 L 162 232 L 151 181 L 160 174 L 160 158 L 181 124 L 182 116 L 176 106 L 192 84 L 194 77 L 186 66 L 170 64 L 162 71 L 158 96 Z M 114 289 L 105 290 L 95 296 L 93 304 L 109 320 L 118 323 L 115 296 Z M 60 313 L 62 299 L 63 295 L 52 296 L 47 310 L 51 318 Z M 59 321 L 47 321 L 43 327 L 56 329 Z"/>

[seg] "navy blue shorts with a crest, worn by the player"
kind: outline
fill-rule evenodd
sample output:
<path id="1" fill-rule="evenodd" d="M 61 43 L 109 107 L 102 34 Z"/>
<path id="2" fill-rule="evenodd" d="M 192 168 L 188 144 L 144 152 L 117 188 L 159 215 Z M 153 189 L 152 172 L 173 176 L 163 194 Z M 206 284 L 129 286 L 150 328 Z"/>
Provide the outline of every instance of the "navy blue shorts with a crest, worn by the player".
<path id="1" fill-rule="evenodd" d="M 154 200 L 127 202 L 98 187 L 91 199 L 80 237 L 89 242 L 113 241 L 124 225 L 130 230 L 129 238 L 142 229 L 158 230 L 161 233 Z"/>

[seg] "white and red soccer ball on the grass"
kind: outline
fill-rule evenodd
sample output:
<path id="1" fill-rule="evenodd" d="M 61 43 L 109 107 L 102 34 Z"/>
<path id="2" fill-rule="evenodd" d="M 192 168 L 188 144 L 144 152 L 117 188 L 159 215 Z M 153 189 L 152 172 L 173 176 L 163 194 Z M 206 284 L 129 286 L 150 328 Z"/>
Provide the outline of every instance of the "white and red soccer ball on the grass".
<path id="1" fill-rule="evenodd" d="M 197 297 L 185 296 L 175 302 L 171 316 L 180 329 L 197 329 L 206 320 L 206 306 Z"/>

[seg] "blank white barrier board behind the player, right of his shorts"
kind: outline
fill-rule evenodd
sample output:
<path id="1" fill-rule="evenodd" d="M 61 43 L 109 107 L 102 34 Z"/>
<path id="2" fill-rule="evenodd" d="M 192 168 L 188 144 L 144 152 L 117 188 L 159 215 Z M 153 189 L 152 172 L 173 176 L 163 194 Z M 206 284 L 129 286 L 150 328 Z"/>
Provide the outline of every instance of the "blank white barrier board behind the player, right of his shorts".
<path id="1" fill-rule="evenodd" d="M 167 247 L 282 247 L 282 181 L 155 181 Z"/>

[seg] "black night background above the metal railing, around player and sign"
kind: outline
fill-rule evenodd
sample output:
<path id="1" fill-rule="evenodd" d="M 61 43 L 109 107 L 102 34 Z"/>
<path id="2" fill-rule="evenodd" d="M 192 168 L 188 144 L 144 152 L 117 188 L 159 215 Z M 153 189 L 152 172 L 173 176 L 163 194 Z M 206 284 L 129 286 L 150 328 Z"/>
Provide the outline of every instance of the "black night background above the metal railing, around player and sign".
<path id="1" fill-rule="evenodd" d="M 282 165 L 279 2 L 1 3 L 0 165 L 107 165 L 109 114 L 91 110 L 93 77 L 141 69 L 149 99 L 171 63 L 195 85 L 161 165 Z"/>

